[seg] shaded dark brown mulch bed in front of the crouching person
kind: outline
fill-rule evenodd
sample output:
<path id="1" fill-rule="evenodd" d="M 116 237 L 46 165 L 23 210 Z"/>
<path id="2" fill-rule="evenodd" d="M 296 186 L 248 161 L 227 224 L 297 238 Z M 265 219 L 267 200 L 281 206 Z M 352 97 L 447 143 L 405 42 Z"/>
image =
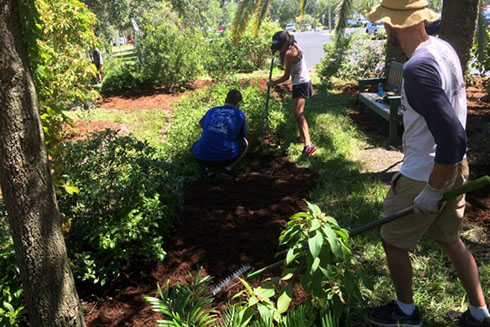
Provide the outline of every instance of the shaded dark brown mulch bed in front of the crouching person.
<path id="1" fill-rule="evenodd" d="M 214 175 L 186 186 L 165 260 L 148 280 L 98 304 L 85 303 L 87 326 L 156 326 L 159 316 L 144 296 L 156 295 L 157 282 L 181 282 L 200 266 L 217 282 L 243 264 L 259 268 L 274 262 L 280 231 L 292 214 L 306 210 L 303 199 L 312 185 L 311 171 L 281 154 L 256 153 L 247 155 L 237 176 Z M 227 299 L 221 294 L 217 303 Z"/>

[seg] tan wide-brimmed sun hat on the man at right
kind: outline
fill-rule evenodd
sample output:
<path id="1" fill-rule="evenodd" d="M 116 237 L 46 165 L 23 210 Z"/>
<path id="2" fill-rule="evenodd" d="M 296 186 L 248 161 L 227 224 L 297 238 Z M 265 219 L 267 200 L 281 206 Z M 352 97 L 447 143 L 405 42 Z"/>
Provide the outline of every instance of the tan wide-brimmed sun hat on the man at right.
<path id="1" fill-rule="evenodd" d="M 383 22 L 405 28 L 424 21 L 434 21 L 438 14 L 428 8 L 426 0 L 382 0 L 366 17 L 373 23 Z"/>

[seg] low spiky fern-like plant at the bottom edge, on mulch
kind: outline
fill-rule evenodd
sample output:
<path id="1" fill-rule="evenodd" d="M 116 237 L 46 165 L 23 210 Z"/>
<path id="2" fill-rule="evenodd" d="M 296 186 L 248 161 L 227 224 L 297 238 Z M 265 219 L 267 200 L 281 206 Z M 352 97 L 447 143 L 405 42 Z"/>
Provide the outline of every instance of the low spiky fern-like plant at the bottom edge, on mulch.
<path id="1" fill-rule="evenodd" d="M 160 327 L 205 327 L 212 326 L 216 321 L 216 310 L 211 303 L 211 277 L 201 278 L 201 269 L 195 276 L 189 273 L 190 281 L 176 284 L 173 288 L 167 281 L 163 290 L 158 287 L 159 297 L 145 297 L 151 309 L 164 315 L 157 320 Z"/>

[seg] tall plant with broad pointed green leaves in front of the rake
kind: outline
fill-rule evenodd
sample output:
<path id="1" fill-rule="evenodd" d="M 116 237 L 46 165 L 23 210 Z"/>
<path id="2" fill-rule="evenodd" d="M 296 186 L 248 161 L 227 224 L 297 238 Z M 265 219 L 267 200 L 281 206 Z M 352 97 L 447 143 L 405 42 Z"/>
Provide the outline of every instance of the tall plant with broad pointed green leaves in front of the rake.
<path id="1" fill-rule="evenodd" d="M 282 231 L 279 244 L 288 248 L 281 275 L 286 282 L 279 294 L 278 308 L 285 312 L 292 300 L 292 285 L 299 280 L 310 295 L 312 304 L 322 312 L 331 312 L 338 323 L 344 303 L 350 298 L 361 300 L 361 280 L 369 285 L 348 246 L 348 232 L 320 208 L 307 202 L 308 212 L 291 217 Z"/>

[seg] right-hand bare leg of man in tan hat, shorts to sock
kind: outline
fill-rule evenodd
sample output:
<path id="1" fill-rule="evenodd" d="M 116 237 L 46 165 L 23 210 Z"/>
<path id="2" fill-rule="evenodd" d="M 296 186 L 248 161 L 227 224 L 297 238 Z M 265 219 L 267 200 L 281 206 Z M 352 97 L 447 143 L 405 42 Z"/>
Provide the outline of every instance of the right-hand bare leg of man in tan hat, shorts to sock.
<path id="1" fill-rule="evenodd" d="M 449 259 L 451 259 L 451 262 L 458 273 L 459 280 L 468 294 L 470 304 L 476 307 L 485 306 L 485 297 L 483 296 L 480 285 L 478 267 L 476 266 L 473 255 L 466 248 L 463 241 L 459 239 L 453 243 L 440 241 L 437 243 L 439 243 L 439 245 L 446 251 Z"/>

